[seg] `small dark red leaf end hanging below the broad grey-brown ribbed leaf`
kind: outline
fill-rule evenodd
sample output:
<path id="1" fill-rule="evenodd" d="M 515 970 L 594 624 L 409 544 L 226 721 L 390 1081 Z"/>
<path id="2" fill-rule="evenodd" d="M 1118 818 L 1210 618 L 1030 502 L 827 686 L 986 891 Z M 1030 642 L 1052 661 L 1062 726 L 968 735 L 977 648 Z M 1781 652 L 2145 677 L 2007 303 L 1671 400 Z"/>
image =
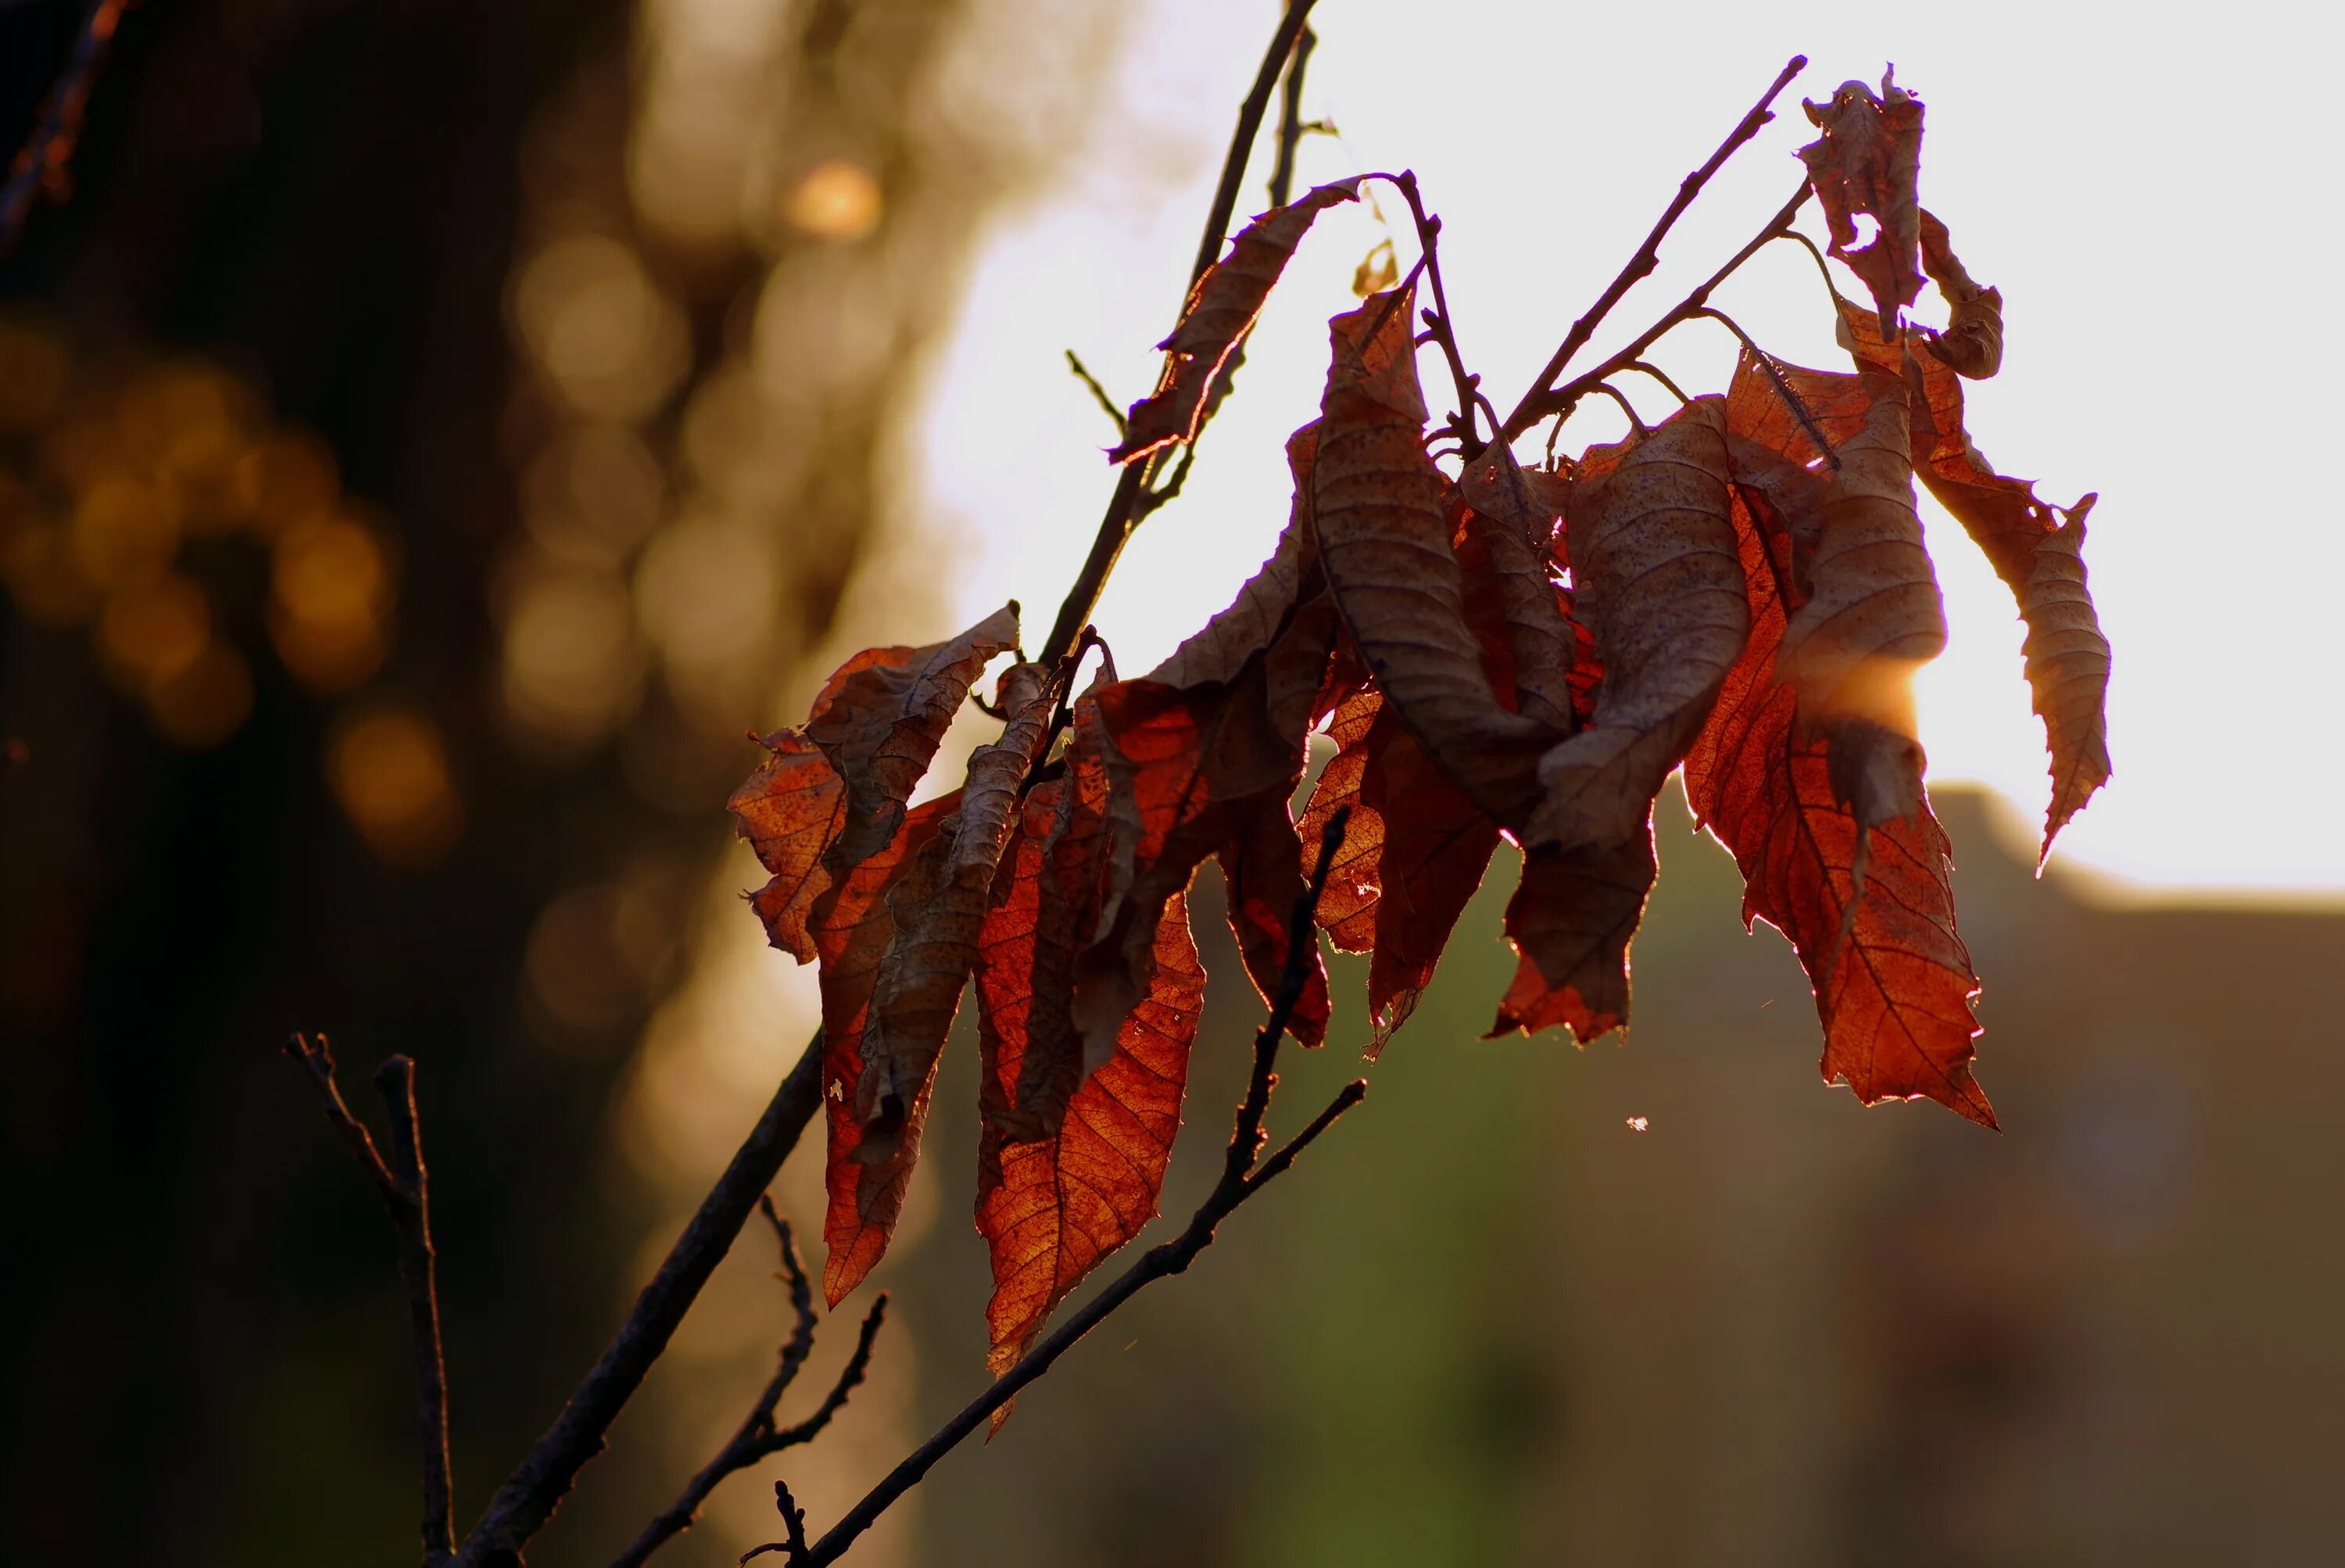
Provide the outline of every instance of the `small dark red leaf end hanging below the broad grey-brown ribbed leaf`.
<path id="1" fill-rule="evenodd" d="M 1522 881 L 1505 905 L 1515 982 L 1484 1038 L 1569 1024 L 1585 1045 L 1627 1022 L 1627 945 L 1653 891 L 1653 820 L 1625 844 L 1555 848 L 1522 855 Z"/>

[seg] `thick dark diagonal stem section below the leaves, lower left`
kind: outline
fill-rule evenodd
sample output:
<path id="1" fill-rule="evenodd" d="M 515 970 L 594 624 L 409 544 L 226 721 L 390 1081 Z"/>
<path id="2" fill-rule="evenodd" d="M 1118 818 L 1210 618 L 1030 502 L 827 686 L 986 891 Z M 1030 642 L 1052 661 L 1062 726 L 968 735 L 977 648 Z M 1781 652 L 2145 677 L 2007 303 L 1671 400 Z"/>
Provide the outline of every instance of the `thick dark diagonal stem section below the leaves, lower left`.
<path id="1" fill-rule="evenodd" d="M 457 1556 L 462 1568 L 504 1568 L 516 1563 L 521 1547 L 553 1516 L 556 1505 L 570 1491 L 579 1470 L 603 1451 L 610 1423 L 619 1418 L 626 1402 L 643 1383 L 643 1373 L 668 1348 L 675 1324 L 699 1298 L 718 1261 L 741 1235 L 741 1226 L 757 1207 L 757 1198 L 774 1181 L 783 1158 L 797 1146 L 800 1134 L 823 1104 L 823 1036 L 807 1043 L 807 1052 L 790 1069 L 790 1076 L 774 1090 L 757 1125 L 734 1153 L 732 1165 L 718 1177 L 701 1200 L 699 1212 L 668 1249 L 659 1273 L 635 1296 L 619 1334 L 612 1336 L 603 1357 L 570 1395 L 570 1404 L 553 1420 L 530 1455 L 490 1498 L 488 1512 Z"/>

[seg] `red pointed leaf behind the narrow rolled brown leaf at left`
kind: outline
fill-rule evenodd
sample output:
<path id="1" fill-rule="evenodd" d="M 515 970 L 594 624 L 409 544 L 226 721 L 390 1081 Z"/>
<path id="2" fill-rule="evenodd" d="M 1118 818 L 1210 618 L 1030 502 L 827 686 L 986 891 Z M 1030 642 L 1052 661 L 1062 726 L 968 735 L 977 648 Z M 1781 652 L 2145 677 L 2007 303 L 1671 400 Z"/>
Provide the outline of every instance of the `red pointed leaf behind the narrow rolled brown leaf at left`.
<path id="1" fill-rule="evenodd" d="M 954 790 L 908 811 L 896 837 L 854 865 L 814 909 L 823 991 L 823 1116 L 830 1123 L 823 1165 L 823 1188 L 830 1193 L 823 1214 L 823 1242 L 830 1249 L 823 1294 L 830 1305 L 861 1284 L 886 1252 L 903 1212 L 905 1181 L 919 1160 L 933 1071 L 886 1127 L 865 1130 L 856 1113 L 856 1088 L 863 1083 L 863 1027 L 870 1020 L 879 956 L 896 930 L 886 893 L 959 806 L 961 795 Z"/>

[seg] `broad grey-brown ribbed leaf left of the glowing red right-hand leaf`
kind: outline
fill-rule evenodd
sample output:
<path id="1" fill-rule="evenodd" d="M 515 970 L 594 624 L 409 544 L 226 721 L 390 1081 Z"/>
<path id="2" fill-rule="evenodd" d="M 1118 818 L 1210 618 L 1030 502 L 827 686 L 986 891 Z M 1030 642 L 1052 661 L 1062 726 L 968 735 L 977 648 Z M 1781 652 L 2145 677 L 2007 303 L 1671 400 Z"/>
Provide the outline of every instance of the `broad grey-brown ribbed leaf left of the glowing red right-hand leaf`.
<path id="1" fill-rule="evenodd" d="M 1606 478 L 1573 488 L 1564 525 L 1604 682 L 1595 724 L 1538 764 L 1543 799 L 1527 839 L 1562 851 L 1649 834 L 1653 797 L 1749 630 L 1724 401 L 1686 403 L 1606 466 Z"/>

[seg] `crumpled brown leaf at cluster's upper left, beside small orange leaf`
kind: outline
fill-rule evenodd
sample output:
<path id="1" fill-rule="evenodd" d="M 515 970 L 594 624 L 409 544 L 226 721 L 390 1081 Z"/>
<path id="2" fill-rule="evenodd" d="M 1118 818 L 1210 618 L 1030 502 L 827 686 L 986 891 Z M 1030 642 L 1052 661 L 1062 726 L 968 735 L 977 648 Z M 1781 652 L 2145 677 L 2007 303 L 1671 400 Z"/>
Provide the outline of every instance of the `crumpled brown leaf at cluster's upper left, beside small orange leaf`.
<path id="1" fill-rule="evenodd" d="M 847 823 L 823 853 L 830 881 L 896 837 L 968 684 L 1013 647 L 1015 602 L 945 642 L 865 649 L 830 677 L 802 731 L 847 783 Z"/>

